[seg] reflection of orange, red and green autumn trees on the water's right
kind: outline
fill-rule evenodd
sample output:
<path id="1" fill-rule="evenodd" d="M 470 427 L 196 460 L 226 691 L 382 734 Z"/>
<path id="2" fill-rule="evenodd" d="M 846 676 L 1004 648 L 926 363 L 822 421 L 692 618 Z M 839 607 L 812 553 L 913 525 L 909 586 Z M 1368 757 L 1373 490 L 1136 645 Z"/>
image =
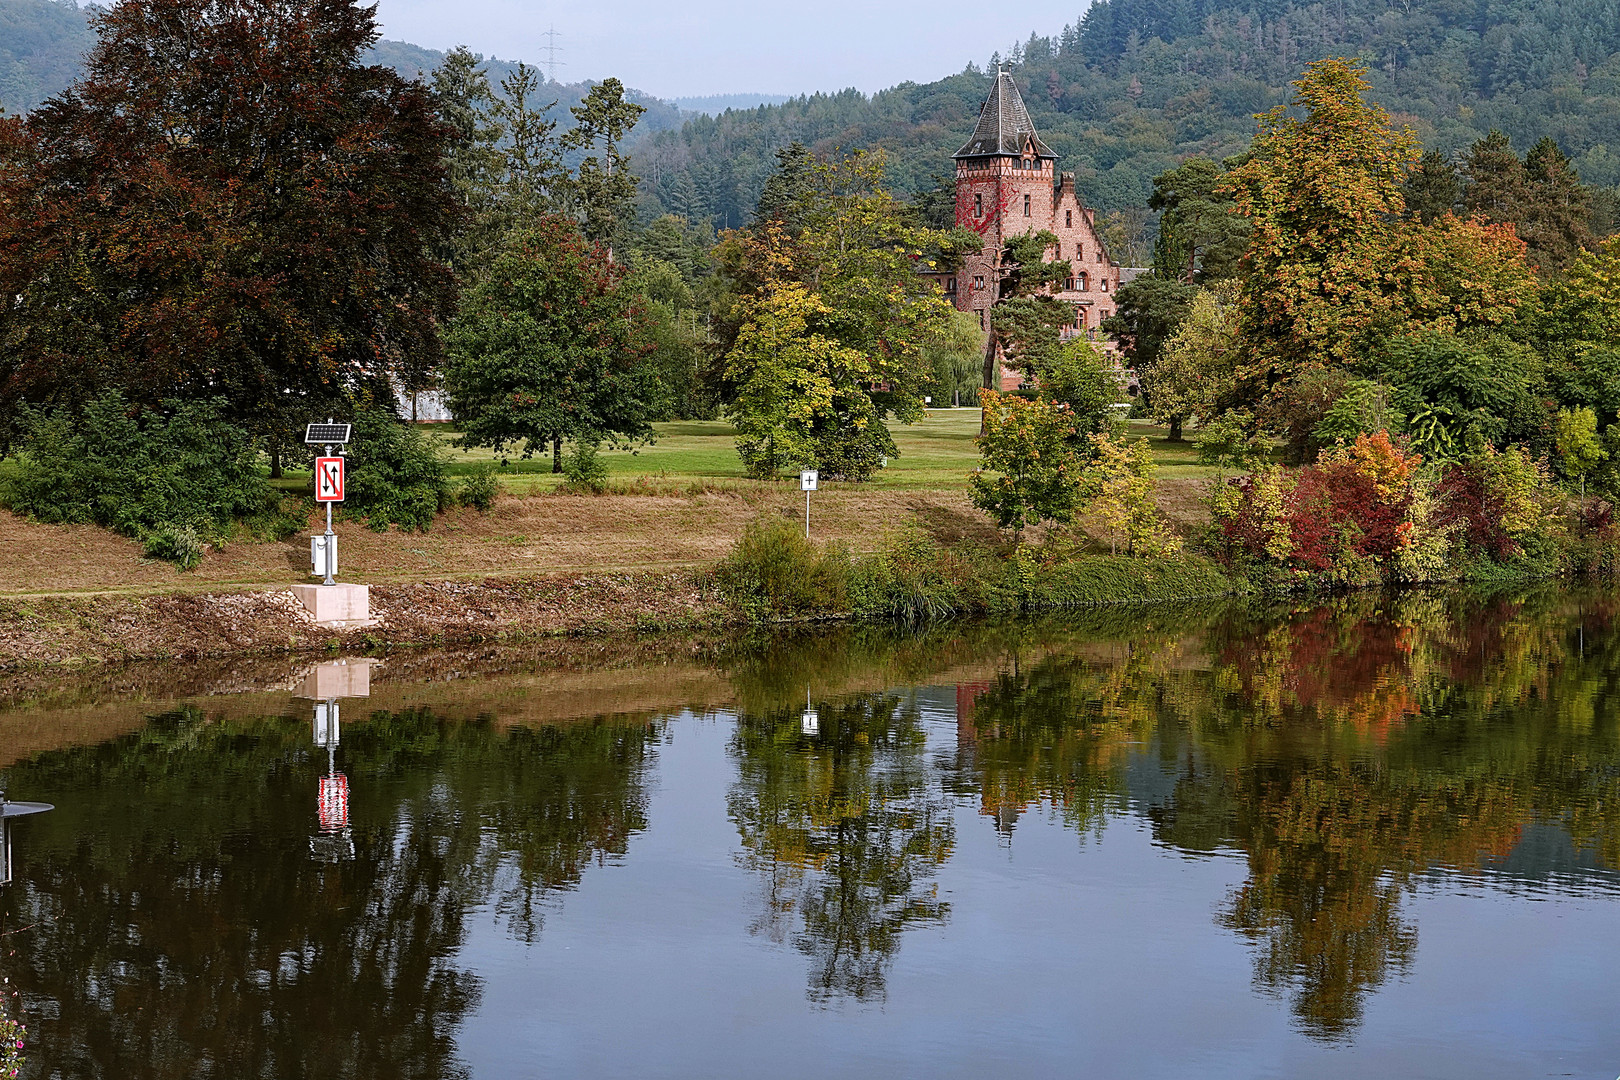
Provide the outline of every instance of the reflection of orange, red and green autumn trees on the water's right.
<path id="1" fill-rule="evenodd" d="M 1612 601 L 1570 607 L 1356 596 L 1215 623 L 1202 659 L 1051 651 L 974 701 L 953 782 L 1000 827 L 1047 803 L 1090 831 L 1132 753 L 1155 761 L 1155 834 L 1246 853 L 1221 925 L 1307 1033 L 1341 1038 L 1413 960 L 1419 874 L 1479 873 L 1531 821 L 1620 865 L 1620 635 Z"/>

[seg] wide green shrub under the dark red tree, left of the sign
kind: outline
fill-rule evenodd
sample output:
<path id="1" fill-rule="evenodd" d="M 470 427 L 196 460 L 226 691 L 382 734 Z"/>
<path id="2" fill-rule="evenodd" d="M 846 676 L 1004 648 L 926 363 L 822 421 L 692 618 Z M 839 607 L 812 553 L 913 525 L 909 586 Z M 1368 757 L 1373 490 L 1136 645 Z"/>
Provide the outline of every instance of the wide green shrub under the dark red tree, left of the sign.
<path id="1" fill-rule="evenodd" d="M 19 450 L 3 492 L 11 510 L 100 525 L 183 567 L 238 525 L 271 533 L 293 525 L 259 474 L 253 437 L 219 402 L 138 410 L 112 390 L 79 415 L 23 410 Z"/>

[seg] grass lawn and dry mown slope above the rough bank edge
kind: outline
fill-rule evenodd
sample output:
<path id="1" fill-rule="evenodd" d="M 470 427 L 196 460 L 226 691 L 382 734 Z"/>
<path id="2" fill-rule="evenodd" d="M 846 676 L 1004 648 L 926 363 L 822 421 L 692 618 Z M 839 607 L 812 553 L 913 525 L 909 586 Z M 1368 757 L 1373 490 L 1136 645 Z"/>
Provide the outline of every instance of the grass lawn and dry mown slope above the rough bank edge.
<path id="1" fill-rule="evenodd" d="M 446 444 L 455 432 L 429 431 Z M 977 463 L 977 410 L 938 410 L 920 424 L 896 429 L 901 457 L 870 484 L 825 484 L 813 497 L 816 541 L 844 541 L 855 552 L 876 551 L 888 533 L 919 525 L 941 544 L 1001 538 L 967 504 L 966 476 Z M 1199 489 L 1209 470 L 1194 463 L 1191 444 L 1153 434 L 1162 468 L 1162 499 L 1171 517 L 1192 521 L 1202 508 Z M 449 449 L 449 447 L 447 447 Z M 491 460 L 488 450 L 449 450 L 452 474 Z M 760 513 L 802 520 L 797 483 L 742 476 L 731 429 L 724 423 L 659 424 L 656 442 L 638 453 L 603 453 L 609 470 L 604 495 L 567 495 L 557 489 L 549 458 L 512 460 L 501 473 L 504 497 L 489 513 L 452 510 L 426 533 L 373 533 L 340 523 L 342 576 L 374 585 L 489 576 L 620 573 L 710 565 L 723 559 L 745 525 Z M 0 463 L 0 470 L 5 465 Z M 280 484 L 308 491 L 308 474 Z M 319 515 L 311 513 L 319 531 Z M 178 573 L 170 563 L 141 557 L 134 541 L 92 526 L 47 526 L 0 512 L 0 596 L 118 594 L 209 591 L 287 585 L 306 580 L 308 541 L 241 541 L 211 551 L 202 563 Z"/>

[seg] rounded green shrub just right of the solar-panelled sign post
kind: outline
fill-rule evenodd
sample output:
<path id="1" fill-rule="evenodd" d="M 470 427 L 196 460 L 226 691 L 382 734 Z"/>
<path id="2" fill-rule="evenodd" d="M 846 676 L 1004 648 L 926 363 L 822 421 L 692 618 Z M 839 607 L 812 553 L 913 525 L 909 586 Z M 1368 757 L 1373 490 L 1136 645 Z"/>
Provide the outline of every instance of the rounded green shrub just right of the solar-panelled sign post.
<path id="1" fill-rule="evenodd" d="M 426 533 L 450 508 L 446 455 L 433 436 L 382 408 L 355 416 L 345 507 L 376 531 L 390 525 Z"/>

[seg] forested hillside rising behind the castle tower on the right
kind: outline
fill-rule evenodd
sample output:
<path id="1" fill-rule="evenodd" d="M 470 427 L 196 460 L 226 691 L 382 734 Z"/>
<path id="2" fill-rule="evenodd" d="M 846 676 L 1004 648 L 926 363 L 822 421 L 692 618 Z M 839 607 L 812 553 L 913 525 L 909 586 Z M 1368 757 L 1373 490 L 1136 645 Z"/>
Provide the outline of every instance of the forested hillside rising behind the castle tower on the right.
<path id="1" fill-rule="evenodd" d="M 1424 146 L 1455 152 L 1500 128 L 1523 152 L 1552 136 L 1592 185 L 1620 185 L 1620 5 L 1614 0 L 1097 0 L 1056 37 L 985 68 L 688 121 L 638 147 L 645 214 L 739 225 L 776 149 L 885 147 L 917 191 L 948 173 L 988 71 L 1014 71 L 1061 168 L 1103 207 L 1142 206 L 1187 154 L 1249 144 L 1252 113 L 1311 60 L 1354 57 L 1377 100 Z"/>

